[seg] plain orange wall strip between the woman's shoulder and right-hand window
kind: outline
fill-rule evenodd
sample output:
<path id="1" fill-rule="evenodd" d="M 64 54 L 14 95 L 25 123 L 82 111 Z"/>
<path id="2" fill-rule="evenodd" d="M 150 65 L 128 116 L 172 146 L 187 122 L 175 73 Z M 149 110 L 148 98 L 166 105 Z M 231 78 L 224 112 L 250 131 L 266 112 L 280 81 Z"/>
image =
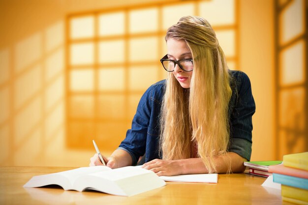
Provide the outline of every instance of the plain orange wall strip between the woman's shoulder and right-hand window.
<path id="1" fill-rule="evenodd" d="M 275 159 L 276 149 L 274 2 L 241 0 L 240 10 L 241 68 L 250 78 L 256 103 L 251 160 L 271 160 Z"/>

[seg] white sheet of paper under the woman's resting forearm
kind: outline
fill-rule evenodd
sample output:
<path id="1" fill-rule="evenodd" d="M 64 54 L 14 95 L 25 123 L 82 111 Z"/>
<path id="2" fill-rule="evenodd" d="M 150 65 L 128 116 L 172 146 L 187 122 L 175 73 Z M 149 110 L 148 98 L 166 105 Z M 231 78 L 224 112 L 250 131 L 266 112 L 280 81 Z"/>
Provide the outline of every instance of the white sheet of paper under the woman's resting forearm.
<path id="1" fill-rule="evenodd" d="M 159 176 L 165 181 L 175 182 L 200 182 L 217 183 L 218 174 L 196 174 L 196 175 L 178 175 L 178 176 Z"/>

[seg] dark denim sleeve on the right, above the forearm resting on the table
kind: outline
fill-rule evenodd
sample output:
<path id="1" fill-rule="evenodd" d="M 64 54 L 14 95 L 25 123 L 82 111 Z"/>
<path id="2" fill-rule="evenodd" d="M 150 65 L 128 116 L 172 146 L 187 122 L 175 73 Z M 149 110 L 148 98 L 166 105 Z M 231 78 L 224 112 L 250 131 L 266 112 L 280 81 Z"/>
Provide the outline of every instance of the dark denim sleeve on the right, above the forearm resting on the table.
<path id="1" fill-rule="evenodd" d="M 250 160 L 252 146 L 252 115 L 255 102 L 248 76 L 238 72 L 233 99 L 231 97 L 229 151 Z"/>

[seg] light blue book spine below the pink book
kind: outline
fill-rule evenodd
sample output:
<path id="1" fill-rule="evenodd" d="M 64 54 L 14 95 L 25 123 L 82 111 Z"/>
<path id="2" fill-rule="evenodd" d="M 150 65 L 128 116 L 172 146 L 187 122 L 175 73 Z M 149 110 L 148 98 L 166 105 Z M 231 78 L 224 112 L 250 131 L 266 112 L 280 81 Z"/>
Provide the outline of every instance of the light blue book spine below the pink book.
<path id="1" fill-rule="evenodd" d="M 288 176 L 288 175 L 280 175 L 280 174 L 273 174 L 274 182 L 297 187 L 301 189 L 308 189 L 308 179 L 307 178 L 300 178 L 296 176 Z"/>

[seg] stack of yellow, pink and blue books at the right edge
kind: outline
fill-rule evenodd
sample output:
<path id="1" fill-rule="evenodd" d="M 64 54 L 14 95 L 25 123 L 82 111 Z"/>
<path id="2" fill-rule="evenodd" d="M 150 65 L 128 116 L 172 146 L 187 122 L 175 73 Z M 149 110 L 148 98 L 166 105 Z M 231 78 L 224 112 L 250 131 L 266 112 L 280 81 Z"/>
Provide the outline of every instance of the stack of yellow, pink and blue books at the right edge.
<path id="1" fill-rule="evenodd" d="M 283 164 L 270 166 L 273 181 L 281 184 L 282 200 L 308 205 L 308 152 L 283 156 Z"/>

